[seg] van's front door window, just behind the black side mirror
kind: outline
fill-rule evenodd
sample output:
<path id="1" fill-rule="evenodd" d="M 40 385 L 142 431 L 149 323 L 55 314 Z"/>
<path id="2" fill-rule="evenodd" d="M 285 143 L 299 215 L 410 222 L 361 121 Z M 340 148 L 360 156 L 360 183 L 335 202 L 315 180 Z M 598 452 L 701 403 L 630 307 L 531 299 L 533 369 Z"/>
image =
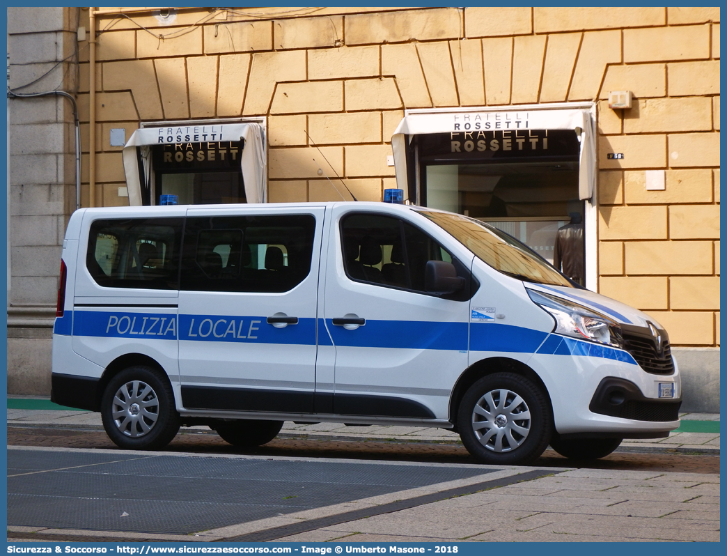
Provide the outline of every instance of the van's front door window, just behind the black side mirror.
<path id="1" fill-rule="evenodd" d="M 452 261 L 434 239 L 391 216 L 348 215 L 341 237 L 346 274 L 360 282 L 425 292 L 427 261 Z"/>

